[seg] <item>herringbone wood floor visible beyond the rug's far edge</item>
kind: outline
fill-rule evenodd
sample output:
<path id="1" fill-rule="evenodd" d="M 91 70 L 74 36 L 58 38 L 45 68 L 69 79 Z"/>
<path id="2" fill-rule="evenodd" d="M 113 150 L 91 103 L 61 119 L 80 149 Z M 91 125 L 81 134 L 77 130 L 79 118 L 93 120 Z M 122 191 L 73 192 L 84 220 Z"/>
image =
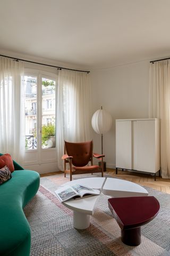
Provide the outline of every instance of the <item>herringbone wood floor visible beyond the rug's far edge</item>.
<path id="1" fill-rule="evenodd" d="M 41 174 L 41 177 L 59 174 L 59 173 L 61 173 L 61 172 Z M 142 174 L 142 173 L 138 173 L 138 172 L 121 171 L 121 170 L 118 170 L 118 174 L 116 175 L 114 169 L 108 169 L 108 168 L 107 168 L 106 173 L 111 175 L 112 177 L 129 180 L 129 181 L 138 183 L 140 185 L 154 188 L 159 191 L 170 194 L 170 179 L 163 179 L 163 178 L 157 177 L 156 181 L 155 181 L 154 176 L 151 176 L 150 174 Z M 69 174 L 67 174 L 67 175 L 69 175 Z M 63 176 L 64 176 L 64 174 L 63 174 Z"/>

